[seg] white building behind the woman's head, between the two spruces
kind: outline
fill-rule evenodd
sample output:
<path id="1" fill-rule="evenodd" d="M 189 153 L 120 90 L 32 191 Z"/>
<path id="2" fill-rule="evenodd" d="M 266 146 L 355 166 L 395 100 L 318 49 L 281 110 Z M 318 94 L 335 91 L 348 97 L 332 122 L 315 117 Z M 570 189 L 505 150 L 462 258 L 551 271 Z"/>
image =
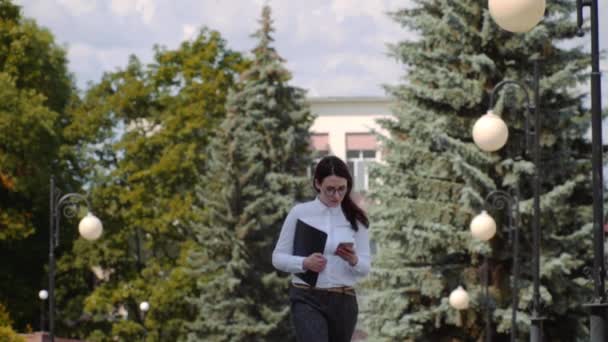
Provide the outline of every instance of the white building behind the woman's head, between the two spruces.
<path id="1" fill-rule="evenodd" d="M 311 127 L 312 146 L 319 156 L 335 155 L 346 161 L 354 190 L 367 191 L 369 161 L 382 160 L 374 131 L 386 132 L 377 119 L 391 118 L 386 97 L 313 97 L 308 102 L 316 119 Z"/>

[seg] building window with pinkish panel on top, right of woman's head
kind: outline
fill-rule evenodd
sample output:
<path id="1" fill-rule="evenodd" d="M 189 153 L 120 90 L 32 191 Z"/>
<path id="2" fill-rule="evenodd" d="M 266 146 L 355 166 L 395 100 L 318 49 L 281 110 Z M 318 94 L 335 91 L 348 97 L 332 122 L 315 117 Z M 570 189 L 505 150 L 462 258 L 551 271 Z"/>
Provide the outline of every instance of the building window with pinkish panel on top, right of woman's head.
<path id="1" fill-rule="evenodd" d="M 346 164 L 353 176 L 353 190 L 369 189 L 369 165 L 376 160 L 376 136 L 371 133 L 346 135 Z"/>

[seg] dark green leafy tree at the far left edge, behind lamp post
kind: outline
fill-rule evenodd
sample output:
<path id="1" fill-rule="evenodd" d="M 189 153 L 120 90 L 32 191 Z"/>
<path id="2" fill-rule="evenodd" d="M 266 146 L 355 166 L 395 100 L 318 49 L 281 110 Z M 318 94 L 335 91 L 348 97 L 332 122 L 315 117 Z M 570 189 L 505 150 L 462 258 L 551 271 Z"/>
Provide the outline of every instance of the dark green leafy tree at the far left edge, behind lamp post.
<path id="1" fill-rule="evenodd" d="M 35 294 L 46 283 L 49 176 L 79 188 L 82 137 L 67 134 L 76 98 L 65 50 L 19 6 L 1 0 L 0 302 L 17 329 L 38 321 Z"/>

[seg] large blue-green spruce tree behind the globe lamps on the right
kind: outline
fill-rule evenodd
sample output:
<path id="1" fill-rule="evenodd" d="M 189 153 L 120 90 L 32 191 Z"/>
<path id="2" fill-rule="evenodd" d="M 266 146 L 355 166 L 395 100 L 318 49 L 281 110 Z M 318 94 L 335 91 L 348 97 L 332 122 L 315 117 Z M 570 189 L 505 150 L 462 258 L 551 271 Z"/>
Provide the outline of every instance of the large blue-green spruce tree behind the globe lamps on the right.
<path id="1" fill-rule="evenodd" d="M 544 20 L 526 34 L 501 30 L 486 1 L 418 0 L 392 13 L 417 37 L 390 46 L 407 68 L 387 87 L 395 120 L 382 122 L 385 163 L 372 170 L 372 237 L 377 243 L 363 312 L 373 341 L 471 341 L 484 335 L 480 273 L 490 265 L 494 340 L 508 336 L 513 255 L 507 234 L 474 241 L 468 225 L 495 189 L 520 191 L 521 277 L 519 338 L 527 336 L 532 300 L 532 176 L 523 134 L 521 90 L 503 88 L 495 106 L 510 127 L 502 150 L 485 153 L 471 129 L 500 81 L 530 85 L 531 59 L 541 58 L 541 295 L 551 341 L 587 336 L 582 303 L 590 294 L 584 268 L 592 260 L 590 154 L 581 94 L 586 56 L 562 43 L 575 36 L 571 1 L 548 2 Z M 533 99 L 533 97 L 532 97 Z M 531 114 L 526 114 L 531 115 Z M 505 212 L 493 212 L 499 226 Z M 502 221 L 502 222 L 501 222 Z M 502 224 L 501 224 L 502 223 Z M 463 285 L 471 307 L 448 305 Z"/>

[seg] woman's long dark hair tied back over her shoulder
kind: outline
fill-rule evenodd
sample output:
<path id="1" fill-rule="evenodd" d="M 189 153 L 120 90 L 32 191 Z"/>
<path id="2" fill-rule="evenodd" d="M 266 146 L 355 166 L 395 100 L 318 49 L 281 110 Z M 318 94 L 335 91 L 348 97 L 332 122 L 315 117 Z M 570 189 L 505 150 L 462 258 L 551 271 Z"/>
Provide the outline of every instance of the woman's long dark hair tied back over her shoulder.
<path id="1" fill-rule="evenodd" d="M 348 167 L 340 158 L 336 156 L 327 156 L 321 159 L 317 164 L 317 167 L 315 168 L 315 177 L 312 180 L 312 186 L 317 193 L 321 192 L 321 189 L 317 188 L 315 181 L 321 184 L 325 177 L 328 176 L 337 176 L 346 179 L 347 190 L 341 205 L 344 216 L 346 216 L 346 219 L 350 222 L 352 228 L 355 231 L 359 230 L 357 221 L 363 223 L 365 228 L 368 228 L 369 220 L 367 219 L 367 215 L 365 215 L 365 212 L 350 198 L 350 192 L 353 189 L 353 176 L 350 175 Z"/>

